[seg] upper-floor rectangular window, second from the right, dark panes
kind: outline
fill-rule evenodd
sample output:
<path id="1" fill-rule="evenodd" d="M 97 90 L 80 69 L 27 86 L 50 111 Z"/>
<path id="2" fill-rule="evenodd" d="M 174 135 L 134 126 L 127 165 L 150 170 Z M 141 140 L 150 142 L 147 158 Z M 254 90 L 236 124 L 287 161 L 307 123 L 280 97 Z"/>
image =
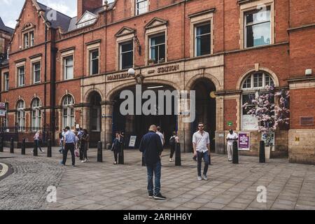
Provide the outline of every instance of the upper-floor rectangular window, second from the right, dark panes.
<path id="1" fill-rule="evenodd" d="M 211 24 L 195 27 L 195 56 L 209 55 L 211 53 Z"/>

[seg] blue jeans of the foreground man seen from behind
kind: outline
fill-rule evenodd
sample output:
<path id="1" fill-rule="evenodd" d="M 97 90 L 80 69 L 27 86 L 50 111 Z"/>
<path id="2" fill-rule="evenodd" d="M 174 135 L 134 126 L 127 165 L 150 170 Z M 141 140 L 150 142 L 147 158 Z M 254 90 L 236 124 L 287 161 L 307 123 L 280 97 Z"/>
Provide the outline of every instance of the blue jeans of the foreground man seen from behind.
<path id="1" fill-rule="evenodd" d="M 148 192 L 153 193 L 153 174 L 155 174 L 154 195 L 159 195 L 161 190 L 161 161 L 155 165 L 146 165 L 148 170 Z"/>

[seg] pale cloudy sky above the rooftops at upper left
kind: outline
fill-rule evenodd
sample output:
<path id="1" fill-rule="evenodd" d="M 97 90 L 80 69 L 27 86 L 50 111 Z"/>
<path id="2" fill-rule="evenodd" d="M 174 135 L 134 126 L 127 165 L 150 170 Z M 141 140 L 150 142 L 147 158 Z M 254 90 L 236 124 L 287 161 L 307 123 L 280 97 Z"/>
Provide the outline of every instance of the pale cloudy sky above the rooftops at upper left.
<path id="1" fill-rule="evenodd" d="M 6 26 L 15 27 L 15 20 L 18 19 L 24 2 L 25 0 L 0 0 L 0 17 Z M 71 17 L 76 16 L 76 0 L 38 0 L 38 2 Z"/>

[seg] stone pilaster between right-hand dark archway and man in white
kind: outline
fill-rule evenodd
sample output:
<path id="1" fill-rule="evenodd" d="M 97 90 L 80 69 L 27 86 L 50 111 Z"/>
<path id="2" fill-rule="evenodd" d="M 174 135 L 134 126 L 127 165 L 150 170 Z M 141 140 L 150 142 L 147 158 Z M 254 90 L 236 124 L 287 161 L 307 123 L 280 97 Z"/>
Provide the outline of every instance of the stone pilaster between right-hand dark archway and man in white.
<path id="1" fill-rule="evenodd" d="M 216 153 L 225 154 L 224 97 L 216 97 Z"/>

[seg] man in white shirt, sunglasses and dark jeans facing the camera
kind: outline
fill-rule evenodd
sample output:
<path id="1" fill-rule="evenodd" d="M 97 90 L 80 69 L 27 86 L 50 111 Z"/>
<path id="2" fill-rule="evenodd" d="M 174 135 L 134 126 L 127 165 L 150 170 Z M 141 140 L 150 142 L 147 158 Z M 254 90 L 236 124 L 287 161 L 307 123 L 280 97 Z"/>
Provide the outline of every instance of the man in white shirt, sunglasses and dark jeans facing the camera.
<path id="1" fill-rule="evenodd" d="M 197 157 L 198 181 L 202 181 L 201 168 L 202 158 L 204 158 L 203 179 L 208 180 L 207 172 L 209 169 L 210 137 L 208 132 L 204 132 L 204 124 L 199 123 L 198 132 L 193 135 L 194 156 Z"/>

